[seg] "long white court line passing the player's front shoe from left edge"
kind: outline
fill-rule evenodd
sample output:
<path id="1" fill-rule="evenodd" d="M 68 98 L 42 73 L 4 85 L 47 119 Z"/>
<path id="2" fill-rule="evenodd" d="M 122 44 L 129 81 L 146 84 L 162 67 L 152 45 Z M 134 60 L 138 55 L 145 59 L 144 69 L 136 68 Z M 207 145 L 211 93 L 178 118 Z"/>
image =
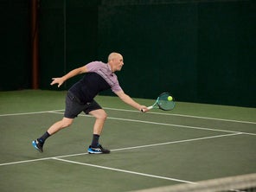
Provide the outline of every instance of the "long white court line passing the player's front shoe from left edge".
<path id="1" fill-rule="evenodd" d="M 139 148 L 147 148 L 147 147 L 153 147 L 153 146 L 160 146 L 160 145 L 164 145 L 164 144 L 178 144 L 178 143 L 198 141 L 198 140 L 204 140 L 204 139 L 210 139 L 210 138 L 230 137 L 230 136 L 235 136 L 235 135 L 240 135 L 240 134 L 243 134 L 243 133 L 236 132 L 236 133 L 232 133 L 232 134 L 217 135 L 217 136 L 204 137 L 204 138 L 191 138 L 191 139 L 185 139 L 185 140 L 179 140 L 179 141 L 171 141 L 171 142 L 165 142 L 165 143 L 159 143 L 159 144 L 146 144 L 146 145 L 140 145 L 140 146 L 134 146 L 134 147 L 125 147 L 125 148 L 115 149 L 115 150 L 112 150 L 112 151 L 133 150 L 133 149 L 139 149 Z M 65 155 L 65 156 L 44 157 L 44 158 L 37 158 L 37 159 L 31 159 L 31 160 L 18 161 L 18 162 L 0 163 L 0 166 L 11 165 L 11 164 L 19 164 L 19 163 L 37 162 L 37 161 L 48 160 L 48 159 L 51 159 L 51 158 L 76 157 L 76 156 L 83 156 L 83 155 L 86 155 L 86 154 L 88 154 L 88 153 L 77 153 L 77 154 L 71 154 L 71 155 Z"/>

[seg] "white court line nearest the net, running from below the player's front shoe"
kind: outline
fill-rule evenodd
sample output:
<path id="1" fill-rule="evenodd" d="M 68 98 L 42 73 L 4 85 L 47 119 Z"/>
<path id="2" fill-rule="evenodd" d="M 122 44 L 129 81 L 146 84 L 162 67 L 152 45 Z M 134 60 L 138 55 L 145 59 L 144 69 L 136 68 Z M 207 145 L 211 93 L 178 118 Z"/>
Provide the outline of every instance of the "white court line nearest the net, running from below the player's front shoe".
<path id="1" fill-rule="evenodd" d="M 89 167 L 95 167 L 95 168 L 104 169 L 104 170 L 114 170 L 114 171 L 118 171 L 118 172 L 123 172 L 123 173 L 129 173 L 129 174 L 133 174 L 133 175 L 138 175 L 138 176 L 149 176 L 149 177 L 153 177 L 153 178 L 164 179 L 164 180 L 170 180 L 170 181 L 174 181 L 174 182 L 185 182 L 185 183 L 196 184 L 196 182 L 189 182 L 189 181 L 186 181 L 186 180 L 181 180 L 181 179 L 176 179 L 176 178 L 170 178 L 170 177 L 166 177 L 166 176 L 154 176 L 154 175 L 145 174 L 145 173 L 139 173 L 139 172 L 135 172 L 135 171 L 131 171 L 131 170 L 120 170 L 120 169 L 115 169 L 115 168 L 111 168 L 111 167 L 100 166 L 100 165 L 96 165 L 96 164 L 80 163 L 80 162 L 70 161 L 70 160 L 61 159 L 61 158 L 57 158 L 57 157 L 54 157 L 54 158 L 52 158 L 52 159 L 57 160 L 57 161 L 66 162 L 66 163 L 74 163 L 74 164 L 79 164 L 79 165 L 84 165 L 84 166 L 89 166 Z"/>

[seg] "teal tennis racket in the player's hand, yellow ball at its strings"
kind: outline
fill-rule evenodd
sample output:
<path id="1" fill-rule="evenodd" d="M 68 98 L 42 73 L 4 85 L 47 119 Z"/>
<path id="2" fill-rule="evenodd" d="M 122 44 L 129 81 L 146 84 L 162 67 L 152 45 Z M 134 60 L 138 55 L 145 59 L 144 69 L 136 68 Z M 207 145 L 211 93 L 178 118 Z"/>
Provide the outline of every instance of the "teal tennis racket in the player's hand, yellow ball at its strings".
<path id="1" fill-rule="evenodd" d="M 162 109 L 163 111 L 170 111 L 175 107 L 174 98 L 170 95 L 170 93 L 162 93 L 157 98 L 156 102 L 152 106 L 148 106 L 148 109 Z M 142 109 L 141 112 L 144 112 Z"/>

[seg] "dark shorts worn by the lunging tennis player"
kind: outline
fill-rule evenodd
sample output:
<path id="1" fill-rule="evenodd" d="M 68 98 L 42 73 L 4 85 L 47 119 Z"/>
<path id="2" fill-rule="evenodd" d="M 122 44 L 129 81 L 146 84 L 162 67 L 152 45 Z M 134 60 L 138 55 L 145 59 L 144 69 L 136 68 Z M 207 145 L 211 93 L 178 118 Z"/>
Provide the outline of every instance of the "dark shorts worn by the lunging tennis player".
<path id="1" fill-rule="evenodd" d="M 88 114 L 89 112 L 92 112 L 97 109 L 102 108 L 95 100 L 83 104 L 80 102 L 78 98 L 74 96 L 73 93 L 67 92 L 66 108 L 64 113 L 65 118 L 76 118 L 80 114 L 80 112 L 85 112 L 86 114 Z"/>

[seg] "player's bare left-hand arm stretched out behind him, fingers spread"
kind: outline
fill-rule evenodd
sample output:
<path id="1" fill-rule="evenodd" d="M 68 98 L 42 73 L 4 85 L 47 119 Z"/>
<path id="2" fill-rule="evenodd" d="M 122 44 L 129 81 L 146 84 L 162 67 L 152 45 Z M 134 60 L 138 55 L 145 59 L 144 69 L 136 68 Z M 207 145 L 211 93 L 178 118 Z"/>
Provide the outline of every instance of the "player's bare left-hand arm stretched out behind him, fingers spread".
<path id="1" fill-rule="evenodd" d="M 84 74 L 87 72 L 86 66 L 75 68 L 74 70 L 70 71 L 69 73 L 65 74 L 62 77 L 56 77 L 52 78 L 51 86 L 54 84 L 58 84 L 58 87 L 60 87 L 66 80 L 74 77 L 78 74 Z"/>

